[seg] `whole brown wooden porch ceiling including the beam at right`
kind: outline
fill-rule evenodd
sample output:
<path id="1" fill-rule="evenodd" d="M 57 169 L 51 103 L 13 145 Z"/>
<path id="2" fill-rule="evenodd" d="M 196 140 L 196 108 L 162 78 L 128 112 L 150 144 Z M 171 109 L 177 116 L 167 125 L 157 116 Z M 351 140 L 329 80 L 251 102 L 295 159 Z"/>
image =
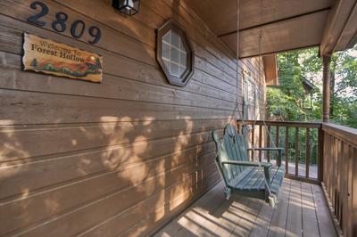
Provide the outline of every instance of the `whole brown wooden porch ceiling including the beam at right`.
<path id="1" fill-rule="evenodd" d="M 184 1 L 239 58 L 317 45 L 329 54 L 357 40 L 357 0 Z"/>

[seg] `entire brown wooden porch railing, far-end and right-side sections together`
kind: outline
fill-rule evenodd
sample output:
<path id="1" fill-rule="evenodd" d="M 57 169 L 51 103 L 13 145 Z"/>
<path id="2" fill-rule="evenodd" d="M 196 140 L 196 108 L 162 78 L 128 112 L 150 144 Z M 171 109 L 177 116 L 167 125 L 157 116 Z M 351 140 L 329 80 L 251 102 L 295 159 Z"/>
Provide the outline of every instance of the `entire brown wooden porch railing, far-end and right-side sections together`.
<path id="1" fill-rule="evenodd" d="M 357 236 L 357 129 L 326 123 L 237 121 L 254 147 L 283 147 L 286 176 L 322 184 L 344 236 Z M 256 151 L 252 159 L 270 161 Z"/>

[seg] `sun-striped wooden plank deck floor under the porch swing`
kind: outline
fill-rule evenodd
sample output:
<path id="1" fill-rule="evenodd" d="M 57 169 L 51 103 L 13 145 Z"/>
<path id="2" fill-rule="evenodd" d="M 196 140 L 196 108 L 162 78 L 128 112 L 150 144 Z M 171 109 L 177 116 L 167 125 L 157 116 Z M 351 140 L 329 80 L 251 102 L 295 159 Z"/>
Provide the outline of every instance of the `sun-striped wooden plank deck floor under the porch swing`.
<path id="1" fill-rule="evenodd" d="M 225 200 L 223 183 L 154 236 L 336 236 L 319 185 L 285 179 L 276 208 L 262 200 Z"/>

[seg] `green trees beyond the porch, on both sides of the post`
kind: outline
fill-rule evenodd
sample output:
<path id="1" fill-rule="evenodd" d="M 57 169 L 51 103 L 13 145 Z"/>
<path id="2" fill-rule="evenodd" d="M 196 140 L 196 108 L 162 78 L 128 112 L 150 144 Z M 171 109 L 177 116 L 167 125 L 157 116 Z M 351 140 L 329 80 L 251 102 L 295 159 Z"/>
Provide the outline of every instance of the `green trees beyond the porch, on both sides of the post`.
<path id="1" fill-rule="evenodd" d="M 357 46 L 354 47 L 357 50 Z M 357 127 L 357 59 L 349 52 L 335 53 L 331 58 L 331 121 Z M 318 49 L 305 49 L 278 54 L 279 86 L 268 88 L 271 117 L 284 120 L 314 121 L 322 114 L 322 62 Z M 301 78 L 314 83 L 312 108 L 302 109 Z"/>

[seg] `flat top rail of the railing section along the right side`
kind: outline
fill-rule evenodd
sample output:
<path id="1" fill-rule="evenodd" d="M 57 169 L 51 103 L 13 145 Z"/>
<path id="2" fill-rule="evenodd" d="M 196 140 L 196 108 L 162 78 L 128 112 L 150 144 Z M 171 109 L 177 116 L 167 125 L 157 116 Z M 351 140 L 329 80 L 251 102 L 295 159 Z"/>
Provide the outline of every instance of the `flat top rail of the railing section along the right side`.
<path id="1" fill-rule="evenodd" d="M 357 129 L 341 125 L 323 123 L 322 130 L 329 135 L 334 135 L 346 143 L 357 147 Z"/>

